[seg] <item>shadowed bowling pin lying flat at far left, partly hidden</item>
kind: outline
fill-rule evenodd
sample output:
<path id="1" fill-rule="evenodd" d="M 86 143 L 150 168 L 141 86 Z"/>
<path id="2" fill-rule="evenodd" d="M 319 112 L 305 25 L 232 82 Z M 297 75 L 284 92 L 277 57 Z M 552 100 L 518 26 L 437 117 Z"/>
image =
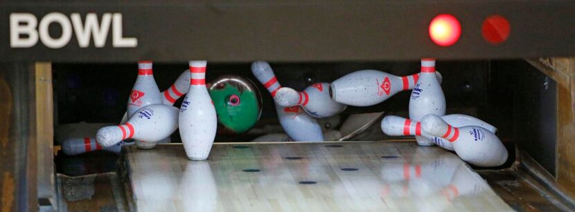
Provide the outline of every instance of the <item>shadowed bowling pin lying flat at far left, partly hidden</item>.
<path id="1" fill-rule="evenodd" d="M 103 148 L 96 142 L 96 138 L 94 137 L 69 138 L 62 142 L 62 152 L 66 155 L 80 155 L 91 151 L 103 150 L 118 154 L 122 150 L 122 146 L 132 144 L 134 144 L 134 142 L 128 143 L 121 141 L 113 146 Z"/>

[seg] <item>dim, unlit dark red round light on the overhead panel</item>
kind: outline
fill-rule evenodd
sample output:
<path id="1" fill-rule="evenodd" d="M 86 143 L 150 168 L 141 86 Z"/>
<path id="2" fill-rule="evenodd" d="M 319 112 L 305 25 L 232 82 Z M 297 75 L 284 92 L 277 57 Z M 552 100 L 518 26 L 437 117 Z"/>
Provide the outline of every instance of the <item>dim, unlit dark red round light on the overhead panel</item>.
<path id="1" fill-rule="evenodd" d="M 511 28 L 509 21 L 500 15 L 492 15 L 483 21 L 481 34 L 483 38 L 491 44 L 499 44 L 509 37 Z"/>

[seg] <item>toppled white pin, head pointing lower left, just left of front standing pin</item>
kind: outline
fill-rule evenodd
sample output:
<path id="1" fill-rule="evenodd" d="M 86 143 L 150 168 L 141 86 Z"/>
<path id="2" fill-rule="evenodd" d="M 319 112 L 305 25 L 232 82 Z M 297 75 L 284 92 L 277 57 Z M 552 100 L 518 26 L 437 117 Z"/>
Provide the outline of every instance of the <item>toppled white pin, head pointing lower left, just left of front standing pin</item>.
<path id="1" fill-rule="evenodd" d="M 158 142 L 177 129 L 178 109 L 164 104 L 145 106 L 134 113 L 125 124 L 105 126 L 98 130 L 96 139 L 104 147 L 124 139 Z"/>

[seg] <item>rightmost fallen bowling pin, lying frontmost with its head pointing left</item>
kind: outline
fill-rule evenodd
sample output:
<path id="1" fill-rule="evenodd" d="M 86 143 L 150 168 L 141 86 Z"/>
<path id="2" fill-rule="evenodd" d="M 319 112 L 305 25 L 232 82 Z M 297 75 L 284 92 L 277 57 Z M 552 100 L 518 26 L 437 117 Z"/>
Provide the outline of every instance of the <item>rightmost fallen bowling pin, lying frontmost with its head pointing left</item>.
<path id="1" fill-rule="evenodd" d="M 421 130 L 447 139 L 461 160 L 475 166 L 501 166 L 507 160 L 507 150 L 501 140 L 480 126 L 458 128 L 439 116 L 429 114 L 421 119 Z"/>

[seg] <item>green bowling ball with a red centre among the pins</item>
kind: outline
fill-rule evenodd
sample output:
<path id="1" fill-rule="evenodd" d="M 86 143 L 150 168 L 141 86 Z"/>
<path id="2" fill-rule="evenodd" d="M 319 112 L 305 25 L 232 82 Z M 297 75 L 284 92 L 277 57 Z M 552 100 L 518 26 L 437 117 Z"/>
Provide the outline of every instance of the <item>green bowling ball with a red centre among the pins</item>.
<path id="1" fill-rule="evenodd" d="M 262 99 L 251 80 L 223 75 L 211 81 L 208 90 L 218 115 L 218 133 L 245 133 L 260 119 Z"/>

